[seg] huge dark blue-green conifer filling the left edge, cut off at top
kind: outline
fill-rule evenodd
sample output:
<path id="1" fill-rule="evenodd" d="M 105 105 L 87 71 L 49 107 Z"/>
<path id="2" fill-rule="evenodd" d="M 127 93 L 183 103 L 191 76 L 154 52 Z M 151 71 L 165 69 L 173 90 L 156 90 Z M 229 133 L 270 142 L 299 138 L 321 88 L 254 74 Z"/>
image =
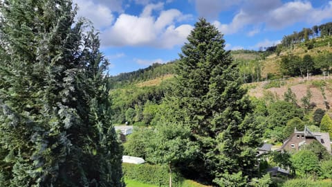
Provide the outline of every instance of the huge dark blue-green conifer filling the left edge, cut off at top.
<path id="1" fill-rule="evenodd" d="M 72 7 L 0 1 L 0 186 L 124 186 L 108 62 Z"/>

